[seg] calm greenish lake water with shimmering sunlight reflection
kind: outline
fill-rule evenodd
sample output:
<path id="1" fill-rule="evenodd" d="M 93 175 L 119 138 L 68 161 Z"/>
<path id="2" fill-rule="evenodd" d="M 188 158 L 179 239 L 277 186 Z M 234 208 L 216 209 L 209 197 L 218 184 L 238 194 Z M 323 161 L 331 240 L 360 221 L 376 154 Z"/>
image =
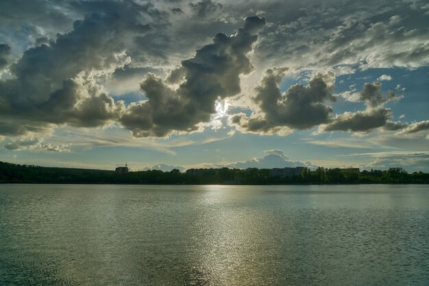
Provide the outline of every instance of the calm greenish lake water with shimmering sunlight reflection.
<path id="1" fill-rule="evenodd" d="M 0 184 L 0 285 L 429 285 L 429 186 Z"/>

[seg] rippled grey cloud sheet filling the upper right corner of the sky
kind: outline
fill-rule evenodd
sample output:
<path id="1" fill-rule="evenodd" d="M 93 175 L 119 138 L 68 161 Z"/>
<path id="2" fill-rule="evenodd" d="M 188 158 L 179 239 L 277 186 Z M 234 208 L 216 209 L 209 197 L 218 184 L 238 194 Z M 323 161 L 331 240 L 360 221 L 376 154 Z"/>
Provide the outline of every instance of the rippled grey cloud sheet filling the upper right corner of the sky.
<path id="1" fill-rule="evenodd" d="M 279 62 L 288 63 L 291 70 L 355 65 L 363 69 L 417 68 L 428 64 L 428 32 L 422 24 L 426 11 L 414 10 L 407 3 L 270 4 L 272 25 L 256 50 L 265 67 Z M 295 13 L 282 15 L 282 19 L 280 11 L 286 6 Z"/>

